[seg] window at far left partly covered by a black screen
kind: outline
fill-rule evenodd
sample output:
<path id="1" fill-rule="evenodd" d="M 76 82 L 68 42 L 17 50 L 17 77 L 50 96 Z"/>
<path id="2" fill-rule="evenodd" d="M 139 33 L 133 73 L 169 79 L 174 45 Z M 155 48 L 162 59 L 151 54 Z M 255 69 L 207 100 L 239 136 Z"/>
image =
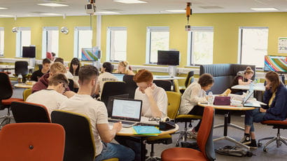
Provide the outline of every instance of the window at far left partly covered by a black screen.
<path id="1" fill-rule="evenodd" d="M 30 27 L 19 27 L 16 34 L 16 57 L 22 57 L 22 47 L 31 45 Z"/>

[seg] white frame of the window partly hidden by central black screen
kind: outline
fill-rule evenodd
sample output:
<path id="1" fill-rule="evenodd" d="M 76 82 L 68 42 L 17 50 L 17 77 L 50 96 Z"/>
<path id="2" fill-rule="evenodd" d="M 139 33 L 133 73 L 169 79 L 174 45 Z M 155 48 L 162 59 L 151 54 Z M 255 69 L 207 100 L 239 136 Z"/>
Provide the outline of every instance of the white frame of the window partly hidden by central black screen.
<path id="1" fill-rule="evenodd" d="M 157 64 L 157 62 L 151 62 L 151 33 L 152 32 L 168 31 L 169 27 L 146 27 L 146 64 Z M 170 32 L 169 32 L 170 36 Z"/>

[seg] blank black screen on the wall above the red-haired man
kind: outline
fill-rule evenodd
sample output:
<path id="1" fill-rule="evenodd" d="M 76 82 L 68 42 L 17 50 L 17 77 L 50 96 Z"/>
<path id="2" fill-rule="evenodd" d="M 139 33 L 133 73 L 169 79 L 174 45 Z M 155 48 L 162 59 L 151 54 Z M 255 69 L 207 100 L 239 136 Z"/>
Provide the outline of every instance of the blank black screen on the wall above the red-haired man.
<path id="1" fill-rule="evenodd" d="M 179 65 L 179 51 L 158 50 L 158 65 Z"/>

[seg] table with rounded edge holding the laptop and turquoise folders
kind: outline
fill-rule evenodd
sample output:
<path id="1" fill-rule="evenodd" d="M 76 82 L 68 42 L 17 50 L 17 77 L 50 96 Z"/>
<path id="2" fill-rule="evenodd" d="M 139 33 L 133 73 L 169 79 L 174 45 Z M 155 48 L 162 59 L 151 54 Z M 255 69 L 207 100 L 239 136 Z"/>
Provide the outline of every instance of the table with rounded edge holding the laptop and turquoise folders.
<path id="1" fill-rule="evenodd" d="M 110 128 L 111 128 L 111 126 L 110 126 Z M 160 136 L 163 134 L 172 134 L 172 133 L 176 132 L 177 130 L 179 130 L 179 125 L 176 124 L 176 128 L 174 128 L 172 130 L 167 130 L 167 131 L 160 131 L 161 133 L 158 135 Z M 123 127 L 122 130 L 120 130 L 120 132 L 117 133 L 117 136 L 140 137 L 140 139 L 141 139 L 140 140 L 140 142 L 141 142 L 141 161 L 146 160 L 146 138 L 149 136 L 134 134 L 132 127 L 129 127 L 129 128 Z"/>

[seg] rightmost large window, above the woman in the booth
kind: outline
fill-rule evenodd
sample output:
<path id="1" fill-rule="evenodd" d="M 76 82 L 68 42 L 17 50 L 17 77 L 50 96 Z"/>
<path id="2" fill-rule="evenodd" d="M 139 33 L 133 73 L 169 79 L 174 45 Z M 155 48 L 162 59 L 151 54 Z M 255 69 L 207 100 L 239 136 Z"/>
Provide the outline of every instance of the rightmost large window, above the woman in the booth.
<path id="1" fill-rule="evenodd" d="M 268 27 L 239 28 L 239 64 L 253 64 L 256 68 L 264 66 L 267 55 Z"/>

